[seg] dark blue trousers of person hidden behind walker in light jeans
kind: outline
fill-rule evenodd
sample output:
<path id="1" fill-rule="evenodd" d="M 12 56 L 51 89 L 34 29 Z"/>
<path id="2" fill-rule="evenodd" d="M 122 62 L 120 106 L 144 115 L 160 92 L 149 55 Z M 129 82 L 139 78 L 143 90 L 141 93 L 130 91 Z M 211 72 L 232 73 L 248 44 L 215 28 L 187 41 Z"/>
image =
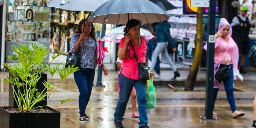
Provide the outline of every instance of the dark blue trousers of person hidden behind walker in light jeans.
<path id="1" fill-rule="evenodd" d="M 147 52 L 146 52 L 146 56 L 147 58 L 152 62 L 152 52 L 155 50 L 156 48 L 156 42 L 149 40 L 147 43 Z M 156 66 L 155 66 L 155 71 L 157 74 L 160 74 L 160 60 L 159 60 L 159 56 L 157 56 L 156 59 Z"/>

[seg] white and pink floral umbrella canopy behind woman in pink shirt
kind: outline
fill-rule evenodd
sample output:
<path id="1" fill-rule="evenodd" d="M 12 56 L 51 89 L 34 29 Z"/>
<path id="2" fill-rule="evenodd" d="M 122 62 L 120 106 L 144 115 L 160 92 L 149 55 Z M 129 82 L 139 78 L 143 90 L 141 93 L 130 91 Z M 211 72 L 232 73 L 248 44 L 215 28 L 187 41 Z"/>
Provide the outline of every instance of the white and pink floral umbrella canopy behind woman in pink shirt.
<path id="1" fill-rule="evenodd" d="M 117 27 L 111 32 L 109 32 L 107 35 L 105 35 L 101 41 L 106 41 L 106 42 L 113 42 L 113 43 L 119 43 L 120 40 L 124 37 L 124 28 L 125 26 Z M 140 36 L 145 37 L 145 39 L 148 41 L 155 36 L 150 33 L 150 31 L 145 30 L 143 28 L 140 28 Z"/>

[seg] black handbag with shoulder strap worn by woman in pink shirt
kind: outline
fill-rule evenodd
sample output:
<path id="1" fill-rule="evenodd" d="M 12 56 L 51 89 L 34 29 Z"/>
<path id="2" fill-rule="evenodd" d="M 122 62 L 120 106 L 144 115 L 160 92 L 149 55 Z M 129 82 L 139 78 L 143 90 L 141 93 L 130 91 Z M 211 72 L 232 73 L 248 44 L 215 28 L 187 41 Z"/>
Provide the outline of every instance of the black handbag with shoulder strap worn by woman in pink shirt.
<path id="1" fill-rule="evenodd" d="M 130 43 L 131 43 L 131 41 L 129 41 L 128 51 L 130 51 Z M 132 46 L 132 44 L 131 44 L 131 46 Z M 137 64 L 138 64 L 139 79 L 149 80 L 150 76 L 148 74 L 147 63 L 139 62 L 138 58 L 137 58 L 137 55 L 136 55 L 136 52 L 135 52 L 135 49 L 134 49 L 133 46 L 132 46 L 132 50 L 134 52 L 134 56 L 135 56 L 135 59 L 136 59 Z M 129 57 L 130 57 L 130 52 L 128 54 L 129 54 Z M 130 59 L 133 59 L 133 58 L 130 58 Z"/>

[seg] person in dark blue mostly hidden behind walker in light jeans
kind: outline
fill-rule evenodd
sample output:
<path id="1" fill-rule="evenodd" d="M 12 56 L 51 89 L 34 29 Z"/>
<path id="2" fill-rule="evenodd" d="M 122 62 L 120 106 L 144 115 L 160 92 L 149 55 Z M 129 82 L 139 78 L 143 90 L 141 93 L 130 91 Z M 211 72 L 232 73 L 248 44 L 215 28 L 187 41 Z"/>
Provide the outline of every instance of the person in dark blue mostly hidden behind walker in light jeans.
<path id="1" fill-rule="evenodd" d="M 154 33 L 152 33 L 152 34 L 154 35 Z M 156 48 L 156 38 L 152 38 L 147 43 L 147 52 L 146 52 L 147 59 L 149 59 L 151 62 L 152 62 L 152 53 L 154 52 L 155 48 Z M 160 75 L 159 56 L 157 56 L 156 66 L 155 66 L 154 70 L 156 72 L 154 75 L 154 78 L 160 78 L 161 75 Z"/>

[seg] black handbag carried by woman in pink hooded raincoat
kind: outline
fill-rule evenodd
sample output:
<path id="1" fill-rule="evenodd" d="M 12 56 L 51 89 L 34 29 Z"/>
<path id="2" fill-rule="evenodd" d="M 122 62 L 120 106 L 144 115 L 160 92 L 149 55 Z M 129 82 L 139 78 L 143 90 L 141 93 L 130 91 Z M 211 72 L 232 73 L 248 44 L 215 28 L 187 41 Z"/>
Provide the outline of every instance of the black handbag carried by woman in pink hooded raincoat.
<path id="1" fill-rule="evenodd" d="M 221 83 L 222 80 L 228 79 L 230 76 L 230 65 L 228 67 L 221 67 L 215 73 L 215 79 Z"/>

